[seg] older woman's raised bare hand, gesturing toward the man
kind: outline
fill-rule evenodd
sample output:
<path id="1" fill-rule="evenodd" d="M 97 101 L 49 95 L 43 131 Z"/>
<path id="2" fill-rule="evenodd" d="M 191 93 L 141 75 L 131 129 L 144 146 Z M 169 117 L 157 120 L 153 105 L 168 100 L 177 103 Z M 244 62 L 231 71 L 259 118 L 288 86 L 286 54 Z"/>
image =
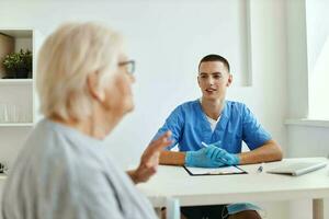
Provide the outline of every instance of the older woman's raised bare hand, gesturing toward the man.
<path id="1" fill-rule="evenodd" d="M 148 181 L 157 172 L 160 152 L 170 146 L 170 137 L 171 132 L 167 131 L 160 138 L 150 142 L 140 158 L 139 166 L 127 172 L 136 184 Z"/>

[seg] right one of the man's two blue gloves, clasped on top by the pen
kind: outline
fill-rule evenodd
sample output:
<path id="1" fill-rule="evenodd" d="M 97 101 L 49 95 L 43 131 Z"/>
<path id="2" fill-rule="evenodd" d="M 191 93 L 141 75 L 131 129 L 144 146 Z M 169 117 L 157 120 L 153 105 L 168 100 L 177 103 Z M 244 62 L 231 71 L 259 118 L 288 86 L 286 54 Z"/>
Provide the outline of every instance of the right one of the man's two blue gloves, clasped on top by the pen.
<path id="1" fill-rule="evenodd" d="M 225 149 L 220 148 L 220 141 L 209 145 L 209 147 L 216 147 L 218 150 L 208 151 L 207 155 L 212 160 L 220 161 L 227 165 L 238 165 L 240 158 L 237 154 L 229 153 Z"/>

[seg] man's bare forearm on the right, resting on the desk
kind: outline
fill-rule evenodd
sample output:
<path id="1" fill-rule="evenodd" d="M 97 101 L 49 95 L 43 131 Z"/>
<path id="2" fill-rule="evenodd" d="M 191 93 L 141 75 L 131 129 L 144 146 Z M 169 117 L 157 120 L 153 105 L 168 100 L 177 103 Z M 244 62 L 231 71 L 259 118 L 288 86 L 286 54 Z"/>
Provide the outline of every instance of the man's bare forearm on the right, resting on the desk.
<path id="1" fill-rule="evenodd" d="M 282 160 L 282 150 L 274 140 L 270 140 L 256 150 L 243 152 L 238 155 L 240 158 L 240 164 L 280 161 Z"/>

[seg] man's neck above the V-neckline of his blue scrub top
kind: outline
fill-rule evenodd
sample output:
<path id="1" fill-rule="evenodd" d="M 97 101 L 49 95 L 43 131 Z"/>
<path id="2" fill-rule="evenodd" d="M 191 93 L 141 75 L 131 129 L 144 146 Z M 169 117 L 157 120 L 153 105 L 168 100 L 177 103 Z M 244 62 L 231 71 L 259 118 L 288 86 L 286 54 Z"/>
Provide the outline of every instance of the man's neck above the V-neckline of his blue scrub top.
<path id="1" fill-rule="evenodd" d="M 217 120 L 220 116 L 223 108 L 225 106 L 225 100 L 208 100 L 201 99 L 201 105 L 203 112 L 211 118 Z"/>

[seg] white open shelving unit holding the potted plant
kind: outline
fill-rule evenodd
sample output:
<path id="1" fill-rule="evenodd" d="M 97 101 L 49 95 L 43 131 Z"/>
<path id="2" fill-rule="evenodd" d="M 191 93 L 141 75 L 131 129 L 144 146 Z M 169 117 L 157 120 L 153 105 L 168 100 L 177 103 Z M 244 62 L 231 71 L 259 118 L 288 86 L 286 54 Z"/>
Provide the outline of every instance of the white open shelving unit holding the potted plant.
<path id="1" fill-rule="evenodd" d="M 4 72 L 3 68 L 0 68 L 2 71 L 0 72 L 0 131 L 7 127 L 33 127 L 35 122 L 35 31 L 32 28 L 0 28 L 1 35 L 11 44 L 13 43 L 14 46 L 11 50 L 18 53 L 21 49 L 29 49 L 32 51 L 33 72 L 31 79 L 2 79 Z M 3 46 L 2 50 L 10 47 L 3 41 L 0 41 L 0 50 L 1 46 Z M 4 54 L 0 55 L 2 55 L 0 58 L 3 58 Z M 0 61 L 2 65 L 2 60 Z"/>

